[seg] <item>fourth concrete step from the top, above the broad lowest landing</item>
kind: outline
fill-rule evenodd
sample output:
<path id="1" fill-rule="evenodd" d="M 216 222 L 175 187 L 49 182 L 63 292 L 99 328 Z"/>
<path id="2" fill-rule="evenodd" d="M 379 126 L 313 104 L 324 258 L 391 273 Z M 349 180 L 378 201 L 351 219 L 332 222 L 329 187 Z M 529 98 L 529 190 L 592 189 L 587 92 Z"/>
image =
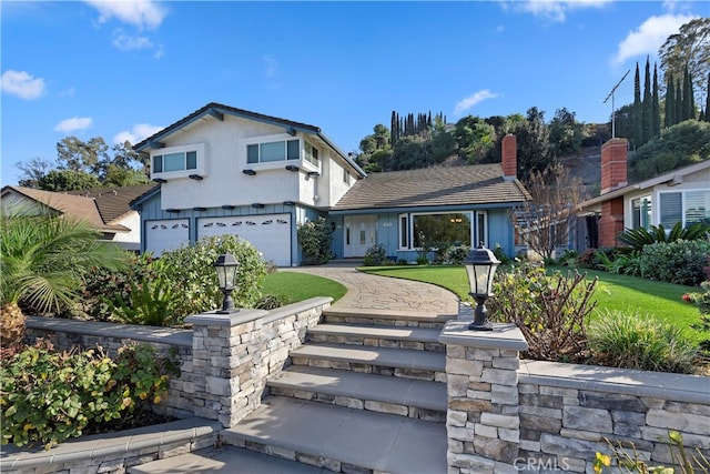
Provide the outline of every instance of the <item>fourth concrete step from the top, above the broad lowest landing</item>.
<path id="1" fill-rule="evenodd" d="M 272 395 L 446 422 L 443 383 L 292 365 L 266 385 Z"/>

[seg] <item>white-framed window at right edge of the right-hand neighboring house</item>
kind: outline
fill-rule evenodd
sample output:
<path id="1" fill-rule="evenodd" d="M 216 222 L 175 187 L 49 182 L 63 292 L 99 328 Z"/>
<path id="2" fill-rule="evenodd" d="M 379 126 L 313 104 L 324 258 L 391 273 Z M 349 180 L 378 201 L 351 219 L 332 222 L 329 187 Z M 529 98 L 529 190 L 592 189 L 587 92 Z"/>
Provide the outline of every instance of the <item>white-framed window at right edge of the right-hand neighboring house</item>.
<path id="1" fill-rule="evenodd" d="M 659 222 L 672 229 L 678 222 L 686 228 L 710 221 L 710 190 L 659 193 Z"/>

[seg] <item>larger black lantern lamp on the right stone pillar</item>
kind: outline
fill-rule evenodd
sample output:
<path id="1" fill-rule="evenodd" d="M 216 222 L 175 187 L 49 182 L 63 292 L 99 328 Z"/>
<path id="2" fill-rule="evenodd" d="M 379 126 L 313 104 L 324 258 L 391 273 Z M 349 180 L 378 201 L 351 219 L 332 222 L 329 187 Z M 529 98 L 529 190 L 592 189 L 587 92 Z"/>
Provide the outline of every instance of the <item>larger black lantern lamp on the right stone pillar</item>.
<path id="1" fill-rule="evenodd" d="M 468 326 L 473 331 L 493 331 L 490 323 L 486 321 L 486 300 L 493 296 L 493 276 L 500 261 L 481 243 L 478 249 L 471 249 L 468 258 L 464 260 L 470 294 L 476 300 L 474 322 Z"/>

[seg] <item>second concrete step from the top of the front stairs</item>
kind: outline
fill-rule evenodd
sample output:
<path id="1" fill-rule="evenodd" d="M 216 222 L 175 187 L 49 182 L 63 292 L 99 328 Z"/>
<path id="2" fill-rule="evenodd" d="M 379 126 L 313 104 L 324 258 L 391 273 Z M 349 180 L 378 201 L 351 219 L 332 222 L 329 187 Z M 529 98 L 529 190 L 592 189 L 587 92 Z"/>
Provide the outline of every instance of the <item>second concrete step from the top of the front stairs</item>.
<path id="1" fill-rule="evenodd" d="M 308 330 L 308 340 L 374 347 L 445 352 L 439 329 L 375 324 L 324 323 Z"/>

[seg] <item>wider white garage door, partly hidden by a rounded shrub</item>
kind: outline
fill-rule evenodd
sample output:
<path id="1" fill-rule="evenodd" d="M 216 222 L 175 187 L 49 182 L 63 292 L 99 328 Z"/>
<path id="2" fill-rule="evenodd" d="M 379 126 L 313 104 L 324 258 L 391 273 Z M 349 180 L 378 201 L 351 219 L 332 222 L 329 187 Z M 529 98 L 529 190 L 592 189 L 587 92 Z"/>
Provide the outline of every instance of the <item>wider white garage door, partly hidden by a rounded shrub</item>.
<path id="1" fill-rule="evenodd" d="M 197 239 L 234 234 L 263 253 L 277 266 L 291 266 L 291 214 L 240 215 L 197 220 Z"/>

